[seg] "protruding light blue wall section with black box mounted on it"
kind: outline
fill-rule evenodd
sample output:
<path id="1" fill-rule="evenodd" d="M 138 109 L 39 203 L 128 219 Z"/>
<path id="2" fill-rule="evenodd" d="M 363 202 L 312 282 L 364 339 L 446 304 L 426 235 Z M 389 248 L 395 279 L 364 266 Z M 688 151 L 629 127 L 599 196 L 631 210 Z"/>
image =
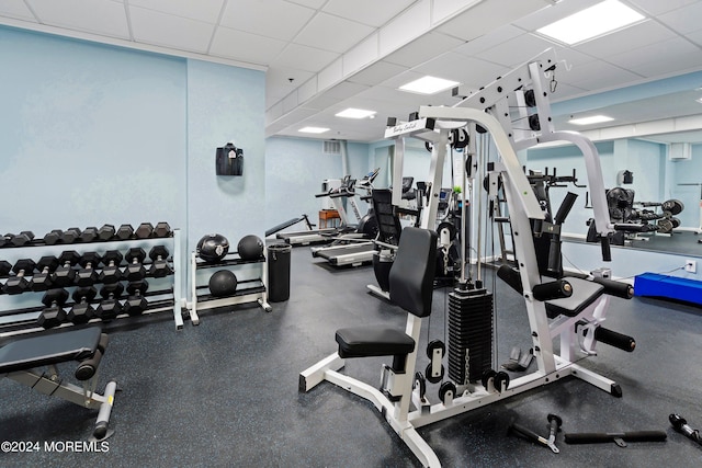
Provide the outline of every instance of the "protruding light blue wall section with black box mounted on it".
<path id="1" fill-rule="evenodd" d="M 188 247 L 219 232 L 236 250 L 265 231 L 264 75 L 188 60 Z M 215 150 L 244 149 L 244 175 L 215 174 Z"/>

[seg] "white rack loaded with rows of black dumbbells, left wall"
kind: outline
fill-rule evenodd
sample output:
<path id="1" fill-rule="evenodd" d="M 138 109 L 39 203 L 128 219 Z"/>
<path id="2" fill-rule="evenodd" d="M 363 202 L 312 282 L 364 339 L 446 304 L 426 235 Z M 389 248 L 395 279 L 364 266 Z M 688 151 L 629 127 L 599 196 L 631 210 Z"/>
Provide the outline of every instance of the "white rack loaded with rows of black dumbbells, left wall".
<path id="1" fill-rule="evenodd" d="M 76 251 L 79 255 L 82 255 L 88 252 L 98 252 L 100 255 L 103 255 L 107 251 L 120 251 L 121 254 L 125 254 L 131 248 L 143 248 L 146 252 L 156 246 L 163 246 L 170 252 L 169 259 L 163 259 L 167 261 L 170 273 L 165 276 L 157 275 L 159 277 L 154 277 L 151 274 L 146 274 L 146 278 L 152 283 L 151 288 L 148 293 L 141 294 L 141 296 L 148 298 L 148 306 L 141 313 L 155 313 L 165 310 L 172 310 L 173 320 L 176 322 L 176 329 L 181 330 L 183 328 L 183 316 L 181 310 L 181 282 L 179 279 L 180 271 L 181 271 L 181 238 L 180 238 L 180 229 L 172 229 L 171 232 L 166 237 L 152 237 L 152 238 L 144 238 L 144 239 L 110 239 L 110 240 L 100 240 L 95 239 L 91 242 L 78 242 L 71 244 L 57 243 L 57 244 L 48 244 L 42 241 L 34 241 L 30 244 L 18 246 L 18 247 L 9 247 L 2 249 L 4 261 L 8 262 L 16 262 L 19 259 L 24 259 L 27 256 L 34 258 L 38 260 L 44 255 L 56 255 L 57 258 L 64 251 Z M 9 248 L 8 248 L 9 247 Z M 151 263 L 144 263 L 144 266 L 149 270 L 149 265 Z M 127 262 L 122 261 L 120 265 L 115 265 L 117 270 L 124 271 Z M 80 269 L 80 264 L 71 266 L 71 269 L 78 271 Z M 97 273 L 102 272 L 103 267 L 97 266 L 94 269 Z M 37 275 L 37 273 L 32 272 L 32 274 L 27 274 L 27 278 L 32 281 L 32 275 Z M 154 279 L 151 279 L 154 277 Z M 2 285 L 8 279 L 0 281 L 0 289 L 2 289 Z M 106 282 L 105 282 L 106 283 Z M 121 278 L 120 282 L 123 287 L 126 288 L 128 282 L 126 278 Z M 100 289 L 102 282 L 98 279 L 94 282 L 93 286 Z M 58 287 L 58 286 L 57 286 Z M 69 284 L 63 286 L 64 289 L 69 292 L 72 295 L 73 290 L 79 286 L 77 284 Z M 26 333 L 30 331 L 35 331 L 39 328 L 39 317 L 45 309 L 44 305 L 36 305 L 37 301 L 42 300 L 44 292 L 36 292 L 31 288 L 23 292 L 22 294 L 8 295 L 0 293 L 0 336 L 8 336 L 18 333 Z M 100 297 L 100 296 L 98 296 Z M 11 299 L 10 299 L 11 298 Z M 124 300 L 126 296 L 120 296 L 115 298 L 117 301 Z M 91 301 L 95 307 L 99 305 L 99 299 L 95 298 Z M 76 304 L 73 301 L 66 301 L 61 305 L 65 311 L 70 311 L 71 308 Z M 115 317 L 111 318 L 111 320 L 129 318 L 129 315 L 126 312 L 117 313 Z M 99 318 L 93 318 L 90 321 L 97 322 L 100 321 Z M 58 327 L 71 327 L 71 322 L 66 319 Z"/>

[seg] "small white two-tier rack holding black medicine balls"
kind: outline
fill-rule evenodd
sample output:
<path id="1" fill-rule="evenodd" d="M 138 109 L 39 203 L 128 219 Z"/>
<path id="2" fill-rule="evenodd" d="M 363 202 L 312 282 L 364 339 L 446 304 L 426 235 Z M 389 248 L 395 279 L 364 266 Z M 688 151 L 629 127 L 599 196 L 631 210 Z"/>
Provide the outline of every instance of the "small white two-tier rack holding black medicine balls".
<path id="1" fill-rule="evenodd" d="M 248 266 L 248 267 L 247 267 Z M 258 266 L 251 267 L 251 266 Z M 199 271 L 213 269 L 231 269 L 239 272 L 249 273 L 246 278 L 237 277 L 237 290 L 227 297 L 215 297 L 208 294 L 207 285 L 199 285 L 202 276 L 199 277 Z M 253 270 L 260 271 L 260 276 L 249 277 Z M 210 276 L 207 276 L 208 278 Z M 244 260 L 236 253 L 226 255 L 222 261 L 216 263 L 206 263 L 200 259 L 196 252 L 190 254 L 190 287 L 191 300 L 186 304 L 190 311 L 190 320 L 194 326 L 200 324 L 200 316 L 197 310 L 214 309 L 217 307 L 236 306 L 239 304 L 257 303 L 267 312 L 271 311 L 268 303 L 268 288 L 265 278 L 268 277 L 268 267 L 265 255 L 261 255 L 254 260 Z M 245 286 L 245 287 L 240 287 Z"/>

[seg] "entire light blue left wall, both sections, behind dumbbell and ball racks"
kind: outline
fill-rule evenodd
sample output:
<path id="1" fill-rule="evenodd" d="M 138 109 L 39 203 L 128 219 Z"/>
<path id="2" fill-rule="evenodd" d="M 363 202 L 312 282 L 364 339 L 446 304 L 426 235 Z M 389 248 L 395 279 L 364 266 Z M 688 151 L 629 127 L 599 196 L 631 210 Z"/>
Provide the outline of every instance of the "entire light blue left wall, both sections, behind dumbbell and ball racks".
<path id="1" fill-rule="evenodd" d="M 182 253 L 263 237 L 263 72 L 4 26 L 0 62 L 2 232 L 165 220 Z M 217 176 L 230 140 L 244 175 Z"/>

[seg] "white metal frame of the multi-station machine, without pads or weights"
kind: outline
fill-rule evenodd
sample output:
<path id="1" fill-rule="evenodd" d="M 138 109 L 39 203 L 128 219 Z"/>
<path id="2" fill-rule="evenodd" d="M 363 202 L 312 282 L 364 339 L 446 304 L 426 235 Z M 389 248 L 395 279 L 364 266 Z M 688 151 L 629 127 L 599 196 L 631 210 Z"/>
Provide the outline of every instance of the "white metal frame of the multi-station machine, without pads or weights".
<path id="1" fill-rule="evenodd" d="M 421 227 L 428 229 L 433 229 L 432 221 L 437 217 L 442 182 L 441 168 L 446 155 L 450 130 L 467 126 L 473 132 L 469 135 L 471 140 L 474 140 L 476 137 L 474 124 L 477 124 L 487 129 L 492 137 L 500 153 L 500 162 L 495 164 L 495 172 L 501 176 L 506 191 L 514 237 L 514 253 L 520 261 L 519 272 L 534 357 L 537 363 L 536 370 L 511 380 L 507 387 L 502 385 L 501 388 L 496 388 L 492 378 L 486 386 L 482 384 L 461 386 L 455 395 L 445 395 L 443 401 L 434 404 L 420 395 L 419 388 L 412 389 L 418 346 L 407 355 L 404 373 L 384 367 L 382 389 L 341 374 L 339 370 L 344 366 L 344 359 L 340 358 L 338 353 L 332 353 L 299 375 L 301 391 L 309 391 L 327 380 L 372 402 L 423 466 L 439 467 L 441 464 L 433 449 L 417 432 L 418 427 L 557 381 L 566 376 L 580 378 L 614 396 L 621 396 L 621 389 L 613 380 L 576 364 L 582 356 L 596 354 L 595 333 L 588 333 L 588 339 L 580 343 L 576 324 L 585 322 L 589 327 L 596 327 L 601 323 L 604 320 L 609 296 L 600 296 L 575 317 L 558 316 L 550 320 L 545 303 L 536 300 L 532 293 L 534 286 L 540 285 L 542 279 L 537 269 L 530 219 L 544 219 L 544 213 L 517 158 L 517 150 L 545 141 L 565 140 L 575 144 L 586 158 L 598 233 L 607 237 L 613 228 L 609 220 L 600 161 L 595 145 L 579 134 L 555 132 L 553 128 L 548 91 L 544 82 L 550 78 L 548 73 L 553 73 L 555 65 L 555 54 L 546 50 L 475 94 L 465 98 L 455 107 L 422 106 L 419 110 L 419 118 L 389 127 L 385 133 L 386 138 L 396 140 L 394 187 L 401 187 L 405 138 L 415 137 L 433 144 L 430 179 L 427 184 L 429 203 L 421 218 Z M 532 88 L 536 95 L 535 107 L 541 123 L 540 132 L 520 132 L 511 126 L 508 95 L 517 96 L 517 101 L 523 103 L 523 92 L 526 88 Z M 526 115 L 528 111 L 525 106 L 520 106 L 519 112 L 520 115 Z M 400 191 L 394 191 L 393 203 L 399 205 L 400 197 Z M 422 320 L 411 313 L 408 315 L 406 333 L 415 340 L 415 343 L 419 343 Z M 554 351 L 555 339 L 561 340 L 559 355 Z M 582 353 L 580 356 L 578 356 L 579 352 Z M 410 410 L 410 403 L 414 406 L 412 410 Z"/>

